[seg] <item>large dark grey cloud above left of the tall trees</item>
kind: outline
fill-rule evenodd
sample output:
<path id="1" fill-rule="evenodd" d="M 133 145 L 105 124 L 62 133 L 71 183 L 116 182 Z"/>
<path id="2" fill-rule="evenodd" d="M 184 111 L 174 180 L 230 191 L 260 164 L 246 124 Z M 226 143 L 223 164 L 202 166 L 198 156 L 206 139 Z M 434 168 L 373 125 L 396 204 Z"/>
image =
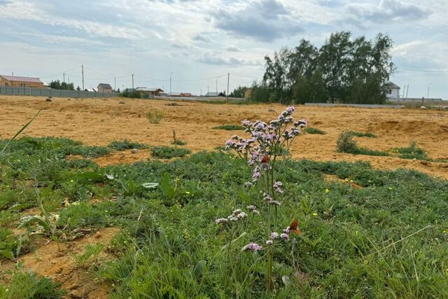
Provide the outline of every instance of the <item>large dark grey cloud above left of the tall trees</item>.
<path id="1" fill-rule="evenodd" d="M 218 29 L 235 36 L 258 41 L 273 41 L 286 35 L 303 32 L 283 4 L 276 0 L 251 2 L 240 11 L 217 11 L 214 21 Z"/>

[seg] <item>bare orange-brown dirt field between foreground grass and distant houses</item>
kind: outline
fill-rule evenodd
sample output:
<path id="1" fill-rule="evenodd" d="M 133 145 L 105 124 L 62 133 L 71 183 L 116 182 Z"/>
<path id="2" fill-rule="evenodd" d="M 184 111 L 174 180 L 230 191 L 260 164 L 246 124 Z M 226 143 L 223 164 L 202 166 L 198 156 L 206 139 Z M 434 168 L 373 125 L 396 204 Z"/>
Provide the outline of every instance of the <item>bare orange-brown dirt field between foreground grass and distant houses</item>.
<path id="1" fill-rule="evenodd" d="M 125 104 L 120 104 L 120 102 Z M 172 131 L 193 151 L 223 146 L 232 134 L 241 131 L 213 130 L 212 127 L 239 124 L 241 120 L 270 120 L 284 108 L 279 104 L 205 104 L 148 99 L 67 99 L 44 97 L 0 97 L 0 138 L 13 136 L 38 109 L 41 114 L 25 134 L 33 137 L 68 137 L 87 145 L 107 145 L 130 139 L 150 146 L 170 145 Z M 159 109 L 165 117 L 159 124 L 148 123 L 146 111 Z M 432 109 L 361 109 L 351 107 L 297 106 L 295 118 L 305 118 L 311 127 L 327 134 L 304 134 L 297 139 L 293 158 L 314 160 L 365 160 L 381 169 L 416 169 L 448 179 L 448 163 L 374 157 L 335 152 L 343 130 L 373 132 L 378 138 L 356 138 L 360 146 L 388 150 L 408 146 L 411 141 L 424 148 L 432 159 L 448 159 L 448 111 Z M 134 162 L 151 158 L 150 151 L 116 152 L 98 158 L 100 165 Z"/>

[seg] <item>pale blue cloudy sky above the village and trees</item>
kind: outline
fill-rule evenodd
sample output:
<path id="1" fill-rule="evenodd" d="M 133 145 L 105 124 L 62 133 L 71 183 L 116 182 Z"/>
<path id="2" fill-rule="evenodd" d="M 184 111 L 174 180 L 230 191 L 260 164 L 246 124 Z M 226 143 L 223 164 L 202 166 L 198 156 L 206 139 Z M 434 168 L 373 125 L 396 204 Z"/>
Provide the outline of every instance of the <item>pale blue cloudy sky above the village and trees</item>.
<path id="1" fill-rule="evenodd" d="M 448 99 L 447 0 L 0 0 L 0 74 L 85 88 L 209 91 L 260 81 L 265 55 L 332 32 L 393 39 L 391 81 Z M 115 83 L 116 82 L 116 83 Z"/>

